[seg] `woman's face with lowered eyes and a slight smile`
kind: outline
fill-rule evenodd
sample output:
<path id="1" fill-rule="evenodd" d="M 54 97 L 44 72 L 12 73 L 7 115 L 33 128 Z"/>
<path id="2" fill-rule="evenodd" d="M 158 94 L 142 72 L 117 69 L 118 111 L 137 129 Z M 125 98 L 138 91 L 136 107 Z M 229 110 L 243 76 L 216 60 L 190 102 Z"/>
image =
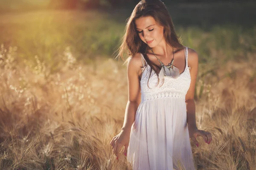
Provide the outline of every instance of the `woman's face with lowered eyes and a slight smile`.
<path id="1" fill-rule="evenodd" d="M 135 20 L 135 25 L 140 39 L 149 47 L 158 45 L 163 37 L 163 26 L 157 24 L 153 17 L 140 17 Z"/>

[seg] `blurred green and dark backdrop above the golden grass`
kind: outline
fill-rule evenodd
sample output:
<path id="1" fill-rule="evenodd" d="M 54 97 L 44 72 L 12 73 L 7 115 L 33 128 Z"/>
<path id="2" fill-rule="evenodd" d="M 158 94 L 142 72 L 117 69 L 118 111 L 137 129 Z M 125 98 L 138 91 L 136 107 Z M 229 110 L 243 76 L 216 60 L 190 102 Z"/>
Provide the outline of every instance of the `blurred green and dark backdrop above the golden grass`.
<path id="1" fill-rule="evenodd" d="M 17 46 L 20 57 L 56 62 L 70 46 L 76 59 L 112 57 L 125 20 L 138 0 L 0 0 L 0 42 Z M 183 44 L 212 60 L 212 49 L 255 49 L 256 3 L 250 0 L 166 0 Z M 200 48 L 199 48 L 200 47 Z M 209 48 L 211 47 L 211 48 Z M 242 57 L 244 58 L 244 57 Z M 241 57 L 239 57 L 241 59 Z"/>

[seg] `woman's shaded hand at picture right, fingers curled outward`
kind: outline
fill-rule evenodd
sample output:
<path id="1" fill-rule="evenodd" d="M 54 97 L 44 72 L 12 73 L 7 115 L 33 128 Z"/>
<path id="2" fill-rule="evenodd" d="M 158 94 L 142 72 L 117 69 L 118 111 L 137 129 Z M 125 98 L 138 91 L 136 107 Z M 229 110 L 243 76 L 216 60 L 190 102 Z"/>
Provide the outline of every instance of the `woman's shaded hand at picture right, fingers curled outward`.
<path id="1" fill-rule="evenodd" d="M 206 142 L 207 144 L 210 144 L 210 142 L 212 141 L 211 133 L 204 130 L 198 130 L 197 127 L 189 128 L 189 137 L 197 147 L 199 146 L 198 141 L 196 140 L 196 137 L 198 136 L 202 136 L 204 139 L 204 142 Z"/>

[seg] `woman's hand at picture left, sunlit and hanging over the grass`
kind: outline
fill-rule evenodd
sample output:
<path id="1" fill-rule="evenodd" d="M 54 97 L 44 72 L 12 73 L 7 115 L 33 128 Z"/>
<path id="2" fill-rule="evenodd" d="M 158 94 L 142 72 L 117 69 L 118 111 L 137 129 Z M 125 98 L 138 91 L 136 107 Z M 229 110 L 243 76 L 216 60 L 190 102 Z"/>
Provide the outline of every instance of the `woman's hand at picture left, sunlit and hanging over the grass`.
<path id="1" fill-rule="evenodd" d="M 113 139 L 110 142 L 110 145 L 112 146 L 113 153 L 116 155 L 116 159 L 118 159 L 118 157 L 119 157 L 119 152 L 120 152 L 122 146 L 125 146 L 123 153 L 125 156 L 127 156 L 129 140 L 130 140 L 130 132 L 124 131 L 124 130 L 122 130 L 118 135 L 113 137 Z"/>

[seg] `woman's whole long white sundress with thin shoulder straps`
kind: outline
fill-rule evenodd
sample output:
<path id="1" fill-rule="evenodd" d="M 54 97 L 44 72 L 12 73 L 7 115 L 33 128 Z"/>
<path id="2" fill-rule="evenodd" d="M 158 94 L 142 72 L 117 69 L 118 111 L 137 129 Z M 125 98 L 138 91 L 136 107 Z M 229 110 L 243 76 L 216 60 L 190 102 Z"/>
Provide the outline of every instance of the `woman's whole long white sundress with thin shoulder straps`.
<path id="1" fill-rule="evenodd" d="M 195 170 L 186 123 L 185 96 L 191 82 L 187 56 L 185 47 L 186 67 L 179 77 L 165 76 L 157 85 L 157 74 L 152 70 L 150 75 L 151 68 L 141 54 L 145 68 L 140 80 L 141 102 L 127 152 L 133 170 Z"/>

